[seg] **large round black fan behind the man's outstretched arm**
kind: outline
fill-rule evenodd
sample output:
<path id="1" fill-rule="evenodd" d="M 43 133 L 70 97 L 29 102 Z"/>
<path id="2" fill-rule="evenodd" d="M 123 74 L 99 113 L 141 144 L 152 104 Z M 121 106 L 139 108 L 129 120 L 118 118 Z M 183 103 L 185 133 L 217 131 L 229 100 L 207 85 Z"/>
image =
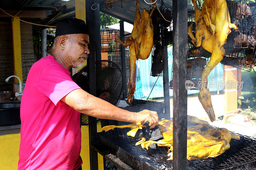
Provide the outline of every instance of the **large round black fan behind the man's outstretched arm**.
<path id="1" fill-rule="evenodd" d="M 84 91 L 90 91 L 89 74 L 84 66 L 73 75 L 73 81 Z M 96 71 L 96 97 L 117 105 L 124 92 L 124 77 L 119 66 L 109 60 L 100 60 L 95 63 Z M 97 119 L 97 122 L 100 122 Z M 80 115 L 81 125 L 88 125 L 88 115 Z"/>

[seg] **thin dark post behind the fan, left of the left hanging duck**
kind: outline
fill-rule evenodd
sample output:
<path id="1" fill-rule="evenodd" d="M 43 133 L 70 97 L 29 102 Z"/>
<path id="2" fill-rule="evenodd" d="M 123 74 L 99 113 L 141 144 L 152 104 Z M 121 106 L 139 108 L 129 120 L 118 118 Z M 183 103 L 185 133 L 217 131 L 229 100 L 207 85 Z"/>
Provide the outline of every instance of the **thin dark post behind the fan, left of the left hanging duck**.
<path id="1" fill-rule="evenodd" d="M 120 20 L 120 38 L 124 42 L 124 21 Z M 124 98 L 127 98 L 125 48 L 121 46 L 122 71 L 124 76 Z"/>

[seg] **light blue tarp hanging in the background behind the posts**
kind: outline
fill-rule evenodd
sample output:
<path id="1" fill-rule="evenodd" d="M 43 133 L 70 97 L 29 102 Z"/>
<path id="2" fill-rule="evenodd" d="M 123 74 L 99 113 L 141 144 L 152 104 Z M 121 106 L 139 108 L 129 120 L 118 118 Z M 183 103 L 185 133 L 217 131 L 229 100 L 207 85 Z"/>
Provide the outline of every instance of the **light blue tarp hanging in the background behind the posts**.
<path id="1" fill-rule="evenodd" d="M 171 80 L 172 74 L 172 47 L 168 48 L 168 68 L 169 68 L 169 81 Z M 151 54 L 147 60 L 138 60 L 136 62 L 136 89 L 134 93 L 135 99 L 142 99 L 148 98 L 152 87 L 154 86 L 155 82 L 156 85 L 152 90 L 149 98 L 159 98 L 164 97 L 164 90 L 163 90 L 163 77 L 150 76 L 151 71 Z M 210 87 L 208 87 L 210 91 L 217 91 L 222 90 L 220 87 L 217 86 L 218 82 L 224 81 L 224 66 L 219 63 L 209 74 L 208 82 L 210 82 Z M 157 81 L 156 81 L 157 80 Z M 213 87 L 213 88 L 212 88 Z M 172 89 L 169 89 L 170 96 L 173 95 Z M 199 90 L 188 90 L 188 94 L 198 93 Z"/>

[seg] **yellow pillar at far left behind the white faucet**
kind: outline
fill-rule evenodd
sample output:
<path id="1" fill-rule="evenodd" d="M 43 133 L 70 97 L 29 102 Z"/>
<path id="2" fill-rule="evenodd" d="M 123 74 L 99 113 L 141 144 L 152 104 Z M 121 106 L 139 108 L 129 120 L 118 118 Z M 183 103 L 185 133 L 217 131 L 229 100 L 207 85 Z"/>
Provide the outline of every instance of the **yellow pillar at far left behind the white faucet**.
<path id="1" fill-rule="evenodd" d="M 21 64 L 20 20 L 16 18 L 12 18 L 12 44 L 14 58 L 14 75 L 18 76 L 21 80 L 21 83 L 23 83 Z M 17 78 L 14 78 L 14 80 L 17 83 L 19 82 Z"/>

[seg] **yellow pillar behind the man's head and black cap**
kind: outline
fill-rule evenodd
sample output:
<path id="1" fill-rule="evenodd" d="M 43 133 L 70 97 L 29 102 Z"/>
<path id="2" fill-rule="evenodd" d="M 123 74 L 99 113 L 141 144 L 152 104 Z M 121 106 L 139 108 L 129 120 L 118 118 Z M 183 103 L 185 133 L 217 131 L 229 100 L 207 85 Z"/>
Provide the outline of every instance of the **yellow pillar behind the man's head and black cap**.
<path id="1" fill-rule="evenodd" d="M 82 19 L 86 23 L 86 15 L 85 15 L 85 0 L 75 0 L 75 12 L 76 12 L 76 18 Z M 87 60 L 84 62 L 84 67 L 87 65 Z M 78 70 L 80 70 L 82 67 L 79 67 Z"/>

